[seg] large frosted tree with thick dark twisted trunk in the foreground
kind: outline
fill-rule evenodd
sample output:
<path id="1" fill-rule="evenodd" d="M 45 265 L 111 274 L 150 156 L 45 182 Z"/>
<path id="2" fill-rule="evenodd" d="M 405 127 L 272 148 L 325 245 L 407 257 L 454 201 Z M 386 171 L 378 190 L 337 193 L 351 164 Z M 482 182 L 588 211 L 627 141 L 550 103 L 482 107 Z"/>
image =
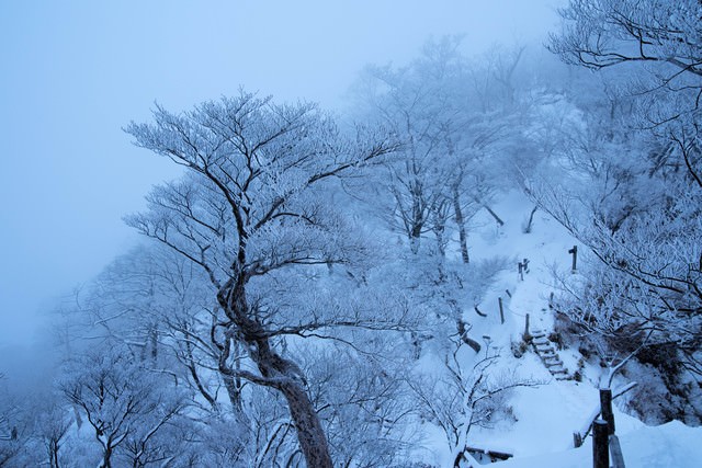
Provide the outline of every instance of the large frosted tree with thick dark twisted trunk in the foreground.
<path id="1" fill-rule="evenodd" d="M 136 145 L 182 164 L 186 175 L 156 187 L 148 212 L 128 224 L 206 272 L 223 313 L 214 331 L 222 345 L 218 370 L 280 392 L 308 466 L 331 466 L 305 376 L 281 346 L 288 336 L 376 317 L 301 310 L 275 293 L 294 298 L 299 292 L 286 288 L 288 278 L 363 256 L 359 228 L 329 203 L 329 191 L 395 144 L 366 132 L 347 137 L 314 105 L 276 105 L 244 92 L 182 114 L 158 107 L 154 117 L 127 132 Z M 233 365 L 237 345 L 250 365 Z"/>

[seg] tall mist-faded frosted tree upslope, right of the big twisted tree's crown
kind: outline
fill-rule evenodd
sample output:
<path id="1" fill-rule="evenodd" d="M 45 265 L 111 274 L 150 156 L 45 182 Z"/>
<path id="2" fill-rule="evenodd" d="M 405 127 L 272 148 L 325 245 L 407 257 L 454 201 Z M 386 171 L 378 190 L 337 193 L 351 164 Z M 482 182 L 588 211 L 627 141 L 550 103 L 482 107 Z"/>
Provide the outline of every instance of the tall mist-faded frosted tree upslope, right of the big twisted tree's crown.
<path id="1" fill-rule="evenodd" d="M 528 152 L 521 128 L 524 48 L 496 47 L 468 59 L 460 37 L 429 41 L 404 67 L 370 66 L 354 88 L 364 118 L 392 128 L 401 150 L 371 187 L 373 205 L 411 251 L 469 262 L 473 216 L 510 183 L 510 160 Z M 434 243 L 422 244 L 433 237 Z"/>

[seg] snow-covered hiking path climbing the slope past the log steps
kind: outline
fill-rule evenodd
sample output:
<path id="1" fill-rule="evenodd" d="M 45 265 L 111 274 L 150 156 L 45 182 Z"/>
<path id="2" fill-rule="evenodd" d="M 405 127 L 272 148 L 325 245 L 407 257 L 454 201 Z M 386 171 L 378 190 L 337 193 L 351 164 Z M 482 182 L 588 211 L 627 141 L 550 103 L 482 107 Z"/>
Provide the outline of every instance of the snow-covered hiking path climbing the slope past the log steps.
<path id="1" fill-rule="evenodd" d="M 520 378 L 539 380 L 543 385 L 517 389 L 510 401 L 517 422 L 510 427 L 476 429 L 471 433 L 471 444 L 511 453 L 520 458 L 559 453 L 573 447 L 573 433 L 587 423 L 598 407 L 597 383 L 587 378 L 581 383 L 556 380 L 533 349 L 530 347 L 522 357 L 514 358 L 509 345 L 521 340 L 526 313 L 530 316 L 530 330 L 553 331 L 554 317 L 548 308 L 553 269 L 555 266 L 569 272 L 571 258 L 568 249 L 576 242 L 555 220 L 539 212 L 532 232 L 524 233 L 521 218 L 528 216 L 531 206 L 521 194 L 510 194 L 498 208 L 510 217 L 506 217 L 506 225 L 497 236 L 490 236 L 490 228 L 486 228 L 475 250 L 485 256 L 503 254 L 513 258 L 514 269 L 502 275 L 495 292 L 486 298 L 485 308 L 492 306 L 490 317 L 483 321 L 476 319 L 476 329 L 479 333 L 494 336 L 494 344 L 501 346 L 503 368 L 512 368 Z M 517 260 L 523 259 L 529 260 L 529 273 L 522 278 L 517 272 Z M 507 296 L 506 289 L 509 289 L 511 297 Z M 503 298 L 505 324 L 500 324 L 497 317 L 497 297 Z M 571 375 L 577 369 L 577 353 L 563 350 L 558 355 Z M 593 370 L 597 373 L 598 369 Z M 595 380 L 595 376 L 591 378 Z M 644 426 L 638 420 L 616 409 L 614 411 L 618 434 Z M 582 450 L 578 450 L 580 453 Z M 589 460 L 589 457 L 586 458 Z"/>

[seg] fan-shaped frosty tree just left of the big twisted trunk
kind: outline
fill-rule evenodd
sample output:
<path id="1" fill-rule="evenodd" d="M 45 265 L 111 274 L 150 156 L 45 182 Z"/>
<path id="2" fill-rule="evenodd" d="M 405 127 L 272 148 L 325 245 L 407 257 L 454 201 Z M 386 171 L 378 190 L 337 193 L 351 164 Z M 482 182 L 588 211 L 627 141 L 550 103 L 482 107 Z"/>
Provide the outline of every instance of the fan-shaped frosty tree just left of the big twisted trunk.
<path id="1" fill-rule="evenodd" d="M 76 297 L 76 339 L 90 335 L 128 346 L 154 368 L 174 376 L 218 411 L 224 386 L 233 407 L 240 386 L 217 368 L 215 290 L 204 272 L 158 243 L 120 255 Z"/>

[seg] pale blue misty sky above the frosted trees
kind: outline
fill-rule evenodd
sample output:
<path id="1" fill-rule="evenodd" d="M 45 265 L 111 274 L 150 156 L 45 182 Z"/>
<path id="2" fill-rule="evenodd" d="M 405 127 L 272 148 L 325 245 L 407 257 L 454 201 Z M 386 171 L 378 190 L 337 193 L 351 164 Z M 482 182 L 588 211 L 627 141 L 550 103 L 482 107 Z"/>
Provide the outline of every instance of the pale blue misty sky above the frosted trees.
<path id="1" fill-rule="evenodd" d="M 404 64 L 431 35 L 468 52 L 542 37 L 558 0 L 0 2 L 0 346 L 95 275 L 136 235 L 176 168 L 121 130 L 235 94 L 340 107 L 369 62 Z M 37 318 L 38 317 L 38 318 Z"/>

